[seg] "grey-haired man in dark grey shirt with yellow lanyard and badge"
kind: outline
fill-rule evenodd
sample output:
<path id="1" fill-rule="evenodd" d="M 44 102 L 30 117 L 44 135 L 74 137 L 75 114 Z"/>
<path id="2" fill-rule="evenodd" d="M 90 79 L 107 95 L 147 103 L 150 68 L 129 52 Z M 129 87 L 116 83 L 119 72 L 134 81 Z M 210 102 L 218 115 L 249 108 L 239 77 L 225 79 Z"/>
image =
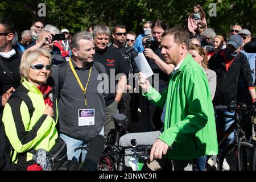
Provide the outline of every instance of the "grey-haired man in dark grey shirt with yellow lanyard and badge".
<path id="1" fill-rule="evenodd" d="M 85 160 L 91 140 L 104 135 L 105 101 L 102 90 L 97 90 L 105 73 L 104 65 L 93 61 L 95 53 L 92 35 L 77 32 L 71 39 L 73 56 L 66 67 L 64 83 L 59 86 L 60 69 L 55 67 L 52 78 L 59 93 L 60 137 L 67 143 L 68 160 Z M 97 65 L 96 65 L 97 64 Z"/>

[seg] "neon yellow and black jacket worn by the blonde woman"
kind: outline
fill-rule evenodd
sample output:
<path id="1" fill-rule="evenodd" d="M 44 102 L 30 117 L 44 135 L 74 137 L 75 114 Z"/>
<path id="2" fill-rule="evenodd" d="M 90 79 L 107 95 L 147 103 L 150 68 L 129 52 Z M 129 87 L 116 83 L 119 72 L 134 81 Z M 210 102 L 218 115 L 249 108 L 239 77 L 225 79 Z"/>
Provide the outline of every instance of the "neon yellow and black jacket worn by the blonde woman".
<path id="1" fill-rule="evenodd" d="M 28 90 L 35 111 L 30 118 L 28 107 L 20 98 L 12 98 L 3 110 L 2 121 L 5 125 L 5 133 L 10 141 L 12 162 L 18 167 L 27 167 L 35 164 L 32 159 L 32 150 L 43 148 L 51 150 L 58 137 L 56 130 L 57 101 L 53 103 L 54 119 L 43 114 L 45 104 L 40 90 L 25 79 L 22 82 Z M 54 97 L 53 97 L 54 98 Z"/>

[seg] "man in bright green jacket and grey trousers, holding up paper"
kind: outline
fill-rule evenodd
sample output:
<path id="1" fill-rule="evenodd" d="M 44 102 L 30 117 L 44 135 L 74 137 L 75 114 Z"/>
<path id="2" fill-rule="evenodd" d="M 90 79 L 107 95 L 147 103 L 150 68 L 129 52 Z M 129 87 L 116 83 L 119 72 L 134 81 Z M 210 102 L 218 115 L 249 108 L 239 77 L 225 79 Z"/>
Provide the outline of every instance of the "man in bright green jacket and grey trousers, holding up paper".
<path id="1" fill-rule="evenodd" d="M 130 139 L 137 144 L 152 144 L 150 160 L 167 154 L 174 170 L 192 170 L 199 156 L 217 155 L 218 144 L 212 98 L 203 69 L 188 53 L 188 33 L 171 28 L 162 35 L 162 54 L 167 64 L 174 64 L 168 88 L 158 93 L 146 76 L 139 73 L 143 95 L 163 108 L 163 131 L 127 134 L 120 139 L 123 146 Z M 168 150 L 169 146 L 171 150 Z"/>

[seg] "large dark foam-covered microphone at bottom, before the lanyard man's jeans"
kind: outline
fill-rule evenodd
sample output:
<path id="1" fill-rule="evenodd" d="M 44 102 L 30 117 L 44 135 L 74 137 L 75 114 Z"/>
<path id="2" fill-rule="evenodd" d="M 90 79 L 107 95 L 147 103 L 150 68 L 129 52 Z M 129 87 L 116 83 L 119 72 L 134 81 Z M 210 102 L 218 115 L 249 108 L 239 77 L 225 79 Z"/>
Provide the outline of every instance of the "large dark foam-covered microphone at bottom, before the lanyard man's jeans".
<path id="1" fill-rule="evenodd" d="M 98 171 L 98 164 L 100 163 L 104 146 L 105 138 L 102 135 L 97 135 L 93 138 L 85 156 L 85 161 L 81 164 L 80 171 Z"/>

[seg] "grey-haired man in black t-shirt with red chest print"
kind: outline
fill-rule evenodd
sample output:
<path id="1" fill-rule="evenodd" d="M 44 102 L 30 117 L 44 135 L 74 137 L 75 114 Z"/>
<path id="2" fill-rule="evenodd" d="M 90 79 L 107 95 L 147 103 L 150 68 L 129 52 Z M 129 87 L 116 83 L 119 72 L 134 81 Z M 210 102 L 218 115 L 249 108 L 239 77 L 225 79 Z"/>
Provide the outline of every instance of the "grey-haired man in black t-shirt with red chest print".
<path id="1" fill-rule="evenodd" d="M 126 89 L 126 75 L 129 73 L 128 65 L 121 53 L 116 49 L 108 47 L 109 37 L 110 30 L 105 24 L 97 24 L 93 28 L 93 39 L 96 49 L 93 59 L 103 64 L 108 74 L 109 93 L 105 97 L 106 111 L 104 118 L 105 137 L 107 137 L 110 129 L 114 129 L 112 116 L 118 113 L 117 105 L 121 100 L 123 91 Z M 122 73 L 122 76 L 115 78 L 119 73 Z"/>

